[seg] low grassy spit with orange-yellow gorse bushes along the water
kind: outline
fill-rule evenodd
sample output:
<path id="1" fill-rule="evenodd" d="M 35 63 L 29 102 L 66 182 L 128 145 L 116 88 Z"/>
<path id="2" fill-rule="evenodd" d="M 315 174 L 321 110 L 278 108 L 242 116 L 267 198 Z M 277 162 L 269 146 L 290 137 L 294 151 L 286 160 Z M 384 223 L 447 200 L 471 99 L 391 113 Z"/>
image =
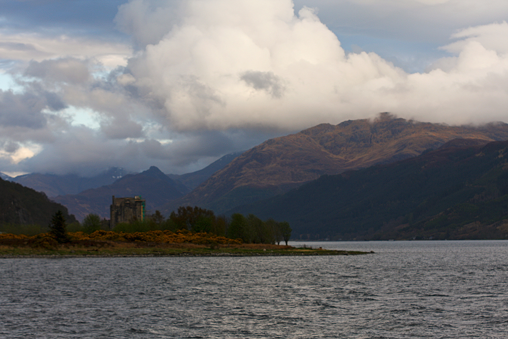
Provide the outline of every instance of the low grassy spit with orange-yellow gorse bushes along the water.
<path id="1" fill-rule="evenodd" d="M 97 233 L 97 234 L 96 234 Z M 92 235 L 116 236 L 123 240 L 78 239 L 57 243 L 49 235 L 37 237 L 6 237 L 0 239 L 1 258 L 76 258 L 76 257 L 257 257 L 257 256 L 329 256 L 359 255 L 369 252 L 327 250 L 321 246 L 294 247 L 266 243 L 241 243 L 235 239 L 212 241 L 201 234 L 146 232 L 117 234 L 99 231 Z M 205 234 L 206 235 L 206 234 Z M 156 237 L 158 236 L 158 237 Z M 168 236 L 176 237 L 175 239 Z M 146 241 L 151 240 L 151 241 Z M 167 240 L 167 241 L 161 241 Z M 173 240 L 175 242 L 168 242 Z"/>

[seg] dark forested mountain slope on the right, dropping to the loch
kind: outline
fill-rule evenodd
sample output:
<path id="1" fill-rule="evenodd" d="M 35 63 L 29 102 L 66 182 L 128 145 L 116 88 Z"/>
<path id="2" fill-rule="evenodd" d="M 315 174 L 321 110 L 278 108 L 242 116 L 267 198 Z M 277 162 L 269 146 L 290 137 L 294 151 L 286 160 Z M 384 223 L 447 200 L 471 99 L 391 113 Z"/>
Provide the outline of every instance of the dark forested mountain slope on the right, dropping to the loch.
<path id="1" fill-rule="evenodd" d="M 454 140 L 232 212 L 288 221 L 303 238 L 508 239 L 508 141 Z"/>

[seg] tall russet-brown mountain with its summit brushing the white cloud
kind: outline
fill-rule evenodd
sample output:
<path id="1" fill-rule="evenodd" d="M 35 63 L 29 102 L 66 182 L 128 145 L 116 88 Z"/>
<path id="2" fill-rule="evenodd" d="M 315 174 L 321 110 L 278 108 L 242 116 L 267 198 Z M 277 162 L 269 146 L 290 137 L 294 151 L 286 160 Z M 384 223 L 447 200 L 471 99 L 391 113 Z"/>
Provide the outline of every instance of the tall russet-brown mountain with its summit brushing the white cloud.
<path id="1" fill-rule="evenodd" d="M 508 125 L 447 126 L 388 113 L 374 120 L 317 125 L 249 149 L 191 193 L 169 203 L 163 213 L 179 205 L 221 213 L 287 192 L 324 174 L 412 158 L 456 138 L 505 140 Z"/>

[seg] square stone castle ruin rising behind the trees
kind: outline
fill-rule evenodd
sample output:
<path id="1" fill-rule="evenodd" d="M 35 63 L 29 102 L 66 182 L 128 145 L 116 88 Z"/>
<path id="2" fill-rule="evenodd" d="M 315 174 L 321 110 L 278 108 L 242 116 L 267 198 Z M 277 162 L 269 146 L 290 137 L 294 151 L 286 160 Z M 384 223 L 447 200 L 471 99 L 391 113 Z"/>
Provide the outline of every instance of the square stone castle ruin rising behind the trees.
<path id="1" fill-rule="evenodd" d="M 145 219 L 145 199 L 140 196 L 134 198 L 115 198 L 109 207 L 111 213 L 110 228 L 113 229 L 118 223 L 131 223 Z"/>

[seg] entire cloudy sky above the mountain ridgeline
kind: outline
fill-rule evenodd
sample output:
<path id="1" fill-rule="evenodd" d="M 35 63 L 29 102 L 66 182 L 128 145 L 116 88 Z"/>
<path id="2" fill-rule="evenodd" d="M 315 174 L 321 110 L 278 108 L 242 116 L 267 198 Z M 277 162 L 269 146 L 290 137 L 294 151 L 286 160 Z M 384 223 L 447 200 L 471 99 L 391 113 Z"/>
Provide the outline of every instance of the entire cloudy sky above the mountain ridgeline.
<path id="1" fill-rule="evenodd" d="M 508 122 L 506 0 L 0 0 L 0 171 L 199 170 L 380 112 Z"/>

